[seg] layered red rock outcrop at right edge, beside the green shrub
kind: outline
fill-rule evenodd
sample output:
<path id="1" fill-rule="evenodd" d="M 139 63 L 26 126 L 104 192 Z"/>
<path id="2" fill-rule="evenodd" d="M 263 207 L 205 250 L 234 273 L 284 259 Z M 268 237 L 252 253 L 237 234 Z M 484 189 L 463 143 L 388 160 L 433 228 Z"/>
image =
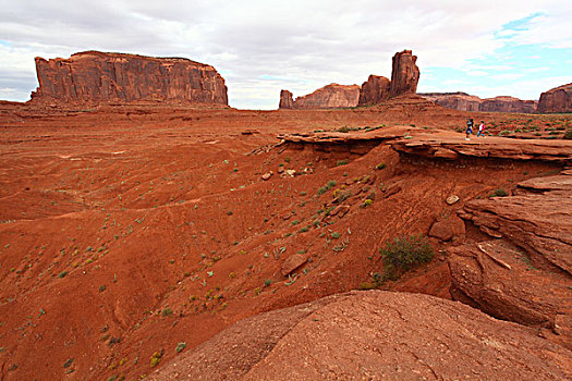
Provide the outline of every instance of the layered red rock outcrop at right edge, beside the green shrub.
<path id="1" fill-rule="evenodd" d="M 518 195 L 468 201 L 461 217 L 497 241 L 450 250 L 453 297 L 544 328 L 572 348 L 572 175 L 532 179 Z"/>

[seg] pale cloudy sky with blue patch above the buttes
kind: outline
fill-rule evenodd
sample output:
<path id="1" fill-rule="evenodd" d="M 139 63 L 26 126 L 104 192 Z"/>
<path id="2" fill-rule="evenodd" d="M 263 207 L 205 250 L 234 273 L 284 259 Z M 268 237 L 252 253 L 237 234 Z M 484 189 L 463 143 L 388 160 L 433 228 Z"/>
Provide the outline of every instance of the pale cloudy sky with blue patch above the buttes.
<path id="1" fill-rule="evenodd" d="M 27 100 L 34 57 L 85 50 L 214 65 L 229 103 L 276 109 L 329 83 L 391 75 L 418 57 L 417 91 L 538 99 L 572 82 L 571 0 L 0 0 L 0 99 Z"/>

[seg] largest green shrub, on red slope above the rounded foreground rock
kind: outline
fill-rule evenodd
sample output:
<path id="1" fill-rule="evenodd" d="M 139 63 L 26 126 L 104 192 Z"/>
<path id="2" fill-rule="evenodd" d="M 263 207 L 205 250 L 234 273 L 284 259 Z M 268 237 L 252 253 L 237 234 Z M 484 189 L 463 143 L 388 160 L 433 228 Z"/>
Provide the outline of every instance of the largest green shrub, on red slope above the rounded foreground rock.
<path id="1" fill-rule="evenodd" d="M 434 256 L 433 248 L 427 237 L 419 235 L 399 236 L 393 242 L 386 243 L 379 249 L 384 262 L 384 273 L 377 283 L 385 280 L 397 280 L 402 273 L 426 262 Z"/>

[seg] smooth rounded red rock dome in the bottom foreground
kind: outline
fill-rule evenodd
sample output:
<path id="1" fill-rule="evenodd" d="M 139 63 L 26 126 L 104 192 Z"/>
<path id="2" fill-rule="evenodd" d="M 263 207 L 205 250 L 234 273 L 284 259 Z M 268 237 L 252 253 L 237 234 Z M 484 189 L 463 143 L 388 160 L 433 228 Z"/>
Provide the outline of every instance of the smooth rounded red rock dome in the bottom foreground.
<path id="1" fill-rule="evenodd" d="M 150 380 L 563 380 L 569 351 L 422 294 L 351 292 L 242 320 Z"/>

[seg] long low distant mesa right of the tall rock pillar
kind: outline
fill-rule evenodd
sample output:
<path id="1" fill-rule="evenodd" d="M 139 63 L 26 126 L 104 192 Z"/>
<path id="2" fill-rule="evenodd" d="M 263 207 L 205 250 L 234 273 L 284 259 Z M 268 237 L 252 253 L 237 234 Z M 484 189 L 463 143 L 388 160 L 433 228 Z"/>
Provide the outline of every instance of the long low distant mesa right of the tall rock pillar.
<path id="1" fill-rule="evenodd" d="M 418 93 L 417 95 L 445 108 L 460 111 L 484 112 L 536 112 L 535 100 L 522 100 L 514 97 L 480 99 L 466 93 Z"/>

